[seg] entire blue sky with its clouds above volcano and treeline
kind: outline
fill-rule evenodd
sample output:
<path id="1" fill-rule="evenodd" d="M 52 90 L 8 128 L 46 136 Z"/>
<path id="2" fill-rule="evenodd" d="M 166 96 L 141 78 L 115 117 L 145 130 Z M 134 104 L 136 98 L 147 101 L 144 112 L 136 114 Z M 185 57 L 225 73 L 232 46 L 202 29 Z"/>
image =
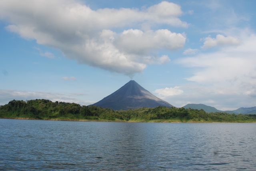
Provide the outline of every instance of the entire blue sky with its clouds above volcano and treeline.
<path id="1" fill-rule="evenodd" d="M 256 105 L 254 0 L 23 2 L 0 2 L 0 105 L 88 105 L 131 78 L 177 107 Z"/>

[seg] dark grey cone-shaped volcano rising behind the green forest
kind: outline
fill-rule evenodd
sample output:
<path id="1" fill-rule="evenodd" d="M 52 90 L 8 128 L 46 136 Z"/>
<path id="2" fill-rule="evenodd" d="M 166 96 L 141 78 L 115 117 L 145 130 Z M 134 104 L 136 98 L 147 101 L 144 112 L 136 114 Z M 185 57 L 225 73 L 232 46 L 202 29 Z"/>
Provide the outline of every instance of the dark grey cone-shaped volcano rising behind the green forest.
<path id="1" fill-rule="evenodd" d="M 157 107 L 160 105 L 173 107 L 173 105 L 154 96 L 134 80 L 126 83 L 120 89 L 98 101 L 97 103 L 94 103 L 93 105 L 115 110 L 126 110 L 140 107 Z"/>

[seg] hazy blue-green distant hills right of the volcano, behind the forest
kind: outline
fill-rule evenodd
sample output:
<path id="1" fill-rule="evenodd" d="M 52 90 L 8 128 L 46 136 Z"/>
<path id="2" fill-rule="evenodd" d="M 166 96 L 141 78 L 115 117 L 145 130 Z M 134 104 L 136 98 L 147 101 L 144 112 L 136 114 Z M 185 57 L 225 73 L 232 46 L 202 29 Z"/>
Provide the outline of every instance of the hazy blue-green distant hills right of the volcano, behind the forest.
<path id="1" fill-rule="evenodd" d="M 204 104 L 187 104 L 183 106 L 185 109 L 191 108 L 191 109 L 203 109 L 206 112 L 226 112 L 226 113 L 235 113 L 235 114 L 256 114 L 256 107 L 240 107 L 236 110 L 227 110 L 227 111 L 222 111 L 218 110 L 215 107 L 204 105 Z"/>

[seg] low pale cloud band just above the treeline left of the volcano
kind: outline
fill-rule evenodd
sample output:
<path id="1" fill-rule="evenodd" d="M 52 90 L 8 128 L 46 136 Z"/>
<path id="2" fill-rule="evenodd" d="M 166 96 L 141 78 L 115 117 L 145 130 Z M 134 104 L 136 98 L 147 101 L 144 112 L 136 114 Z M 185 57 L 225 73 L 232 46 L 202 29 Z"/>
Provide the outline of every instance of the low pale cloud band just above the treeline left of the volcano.
<path id="1" fill-rule="evenodd" d="M 0 105 L 8 103 L 10 100 L 30 100 L 30 99 L 49 99 L 51 101 L 64 101 L 90 105 L 95 101 L 84 100 L 86 94 L 82 93 L 52 93 L 40 91 L 19 91 L 10 89 L 0 89 Z M 82 97 L 82 98 L 81 98 Z"/>

